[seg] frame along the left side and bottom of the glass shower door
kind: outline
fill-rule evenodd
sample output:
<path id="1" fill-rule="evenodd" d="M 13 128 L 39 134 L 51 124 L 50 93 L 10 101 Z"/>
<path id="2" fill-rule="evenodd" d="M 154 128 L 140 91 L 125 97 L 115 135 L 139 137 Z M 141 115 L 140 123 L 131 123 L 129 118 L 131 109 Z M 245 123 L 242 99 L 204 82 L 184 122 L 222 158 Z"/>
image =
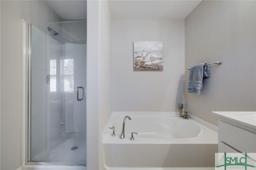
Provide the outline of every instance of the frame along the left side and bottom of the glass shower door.
<path id="1" fill-rule="evenodd" d="M 22 120 L 21 120 L 21 162 L 22 166 L 28 165 L 60 165 L 62 168 L 70 167 L 77 170 L 86 170 L 87 166 L 56 164 L 53 162 L 31 161 L 31 23 L 21 19 L 22 39 Z M 87 160 L 87 158 L 86 158 Z M 82 168 L 82 169 L 81 169 Z M 84 169 L 85 168 L 85 169 Z M 74 170 L 75 170 L 74 169 Z"/>

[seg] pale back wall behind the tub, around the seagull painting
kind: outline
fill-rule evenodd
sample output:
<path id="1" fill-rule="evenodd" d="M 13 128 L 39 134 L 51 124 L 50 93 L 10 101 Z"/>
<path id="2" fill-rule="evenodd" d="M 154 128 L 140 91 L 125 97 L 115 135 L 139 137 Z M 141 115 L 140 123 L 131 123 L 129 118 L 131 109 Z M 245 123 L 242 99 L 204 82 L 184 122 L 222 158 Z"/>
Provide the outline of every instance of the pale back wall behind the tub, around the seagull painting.
<path id="1" fill-rule="evenodd" d="M 163 41 L 163 71 L 133 71 L 133 42 Z M 184 20 L 112 20 L 112 110 L 178 111 L 184 90 Z"/>

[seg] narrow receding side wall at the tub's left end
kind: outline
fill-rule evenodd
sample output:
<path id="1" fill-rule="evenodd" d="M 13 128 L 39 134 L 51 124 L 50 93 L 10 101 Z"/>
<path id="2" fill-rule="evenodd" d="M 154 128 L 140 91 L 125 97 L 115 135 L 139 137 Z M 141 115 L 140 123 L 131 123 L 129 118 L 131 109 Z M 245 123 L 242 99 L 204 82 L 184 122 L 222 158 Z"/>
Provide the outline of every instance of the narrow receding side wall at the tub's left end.
<path id="1" fill-rule="evenodd" d="M 111 108 L 111 14 L 108 1 L 100 1 L 99 54 L 99 169 L 102 167 L 102 131 L 112 113 Z"/>

